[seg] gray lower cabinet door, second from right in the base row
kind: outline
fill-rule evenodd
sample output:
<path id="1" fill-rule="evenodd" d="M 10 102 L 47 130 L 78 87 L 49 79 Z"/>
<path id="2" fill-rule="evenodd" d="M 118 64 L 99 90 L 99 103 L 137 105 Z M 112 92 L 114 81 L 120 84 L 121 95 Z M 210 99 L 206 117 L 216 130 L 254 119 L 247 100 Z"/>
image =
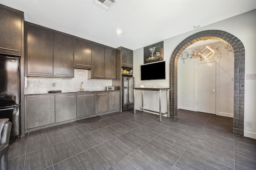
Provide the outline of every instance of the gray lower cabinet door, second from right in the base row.
<path id="1" fill-rule="evenodd" d="M 96 114 L 108 112 L 108 92 L 96 92 L 95 95 Z"/>

